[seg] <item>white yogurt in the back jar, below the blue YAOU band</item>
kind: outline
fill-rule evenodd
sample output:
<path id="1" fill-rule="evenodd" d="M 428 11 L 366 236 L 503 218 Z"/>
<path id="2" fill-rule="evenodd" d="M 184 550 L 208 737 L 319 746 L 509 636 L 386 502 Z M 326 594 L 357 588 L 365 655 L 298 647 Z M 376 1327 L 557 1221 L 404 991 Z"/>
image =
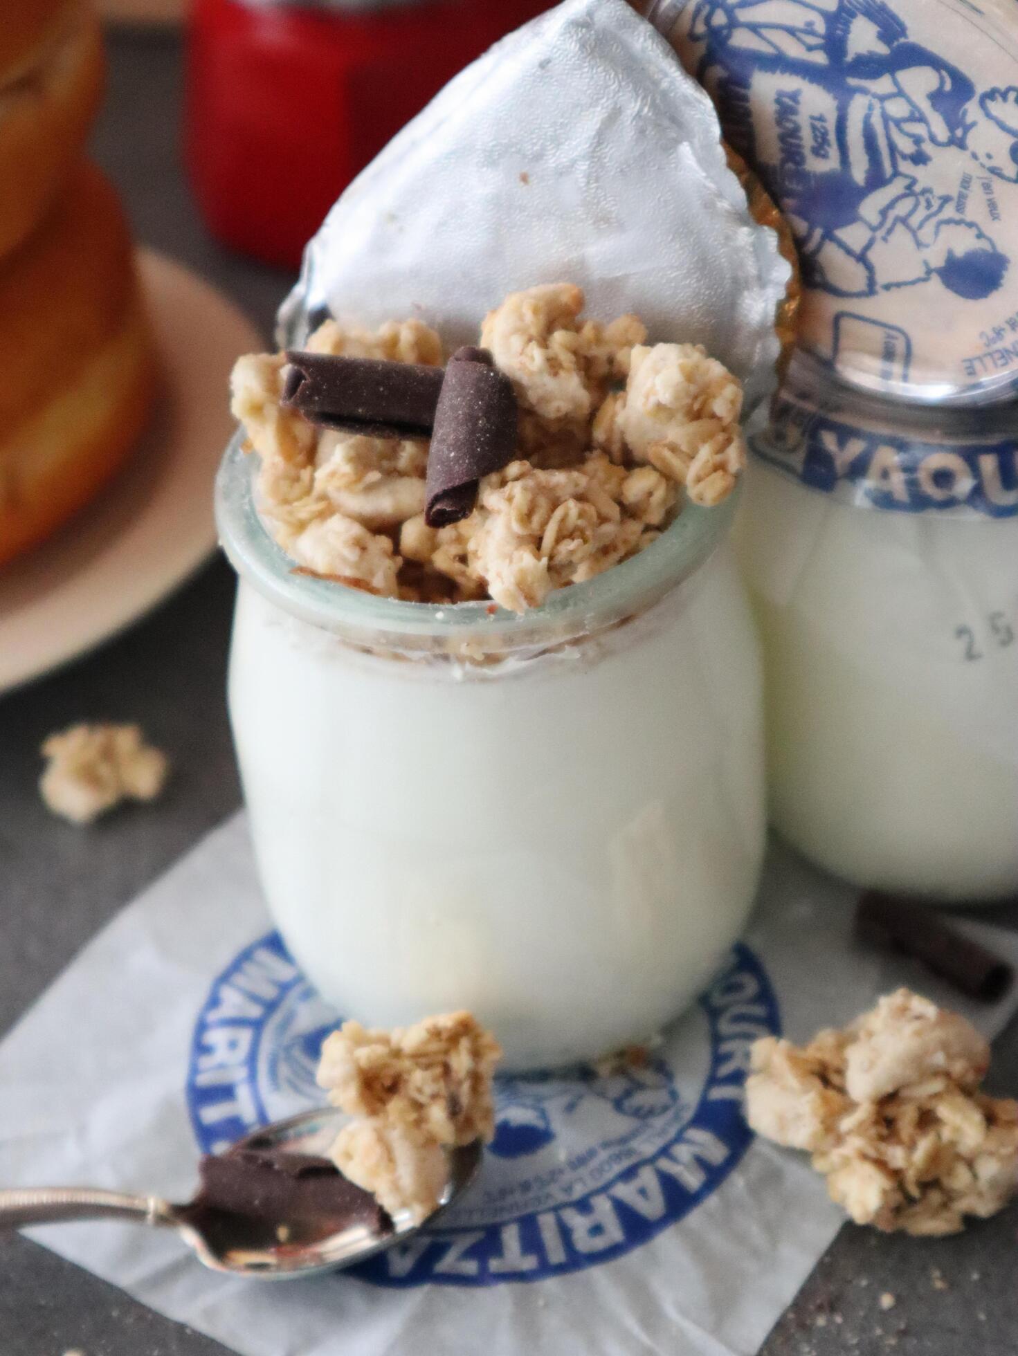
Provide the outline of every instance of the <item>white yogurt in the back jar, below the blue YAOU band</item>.
<path id="1" fill-rule="evenodd" d="M 1018 518 L 861 507 L 758 461 L 737 536 L 774 824 L 861 885 L 1014 894 Z"/>

